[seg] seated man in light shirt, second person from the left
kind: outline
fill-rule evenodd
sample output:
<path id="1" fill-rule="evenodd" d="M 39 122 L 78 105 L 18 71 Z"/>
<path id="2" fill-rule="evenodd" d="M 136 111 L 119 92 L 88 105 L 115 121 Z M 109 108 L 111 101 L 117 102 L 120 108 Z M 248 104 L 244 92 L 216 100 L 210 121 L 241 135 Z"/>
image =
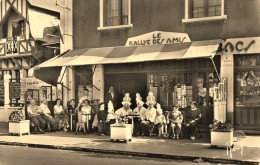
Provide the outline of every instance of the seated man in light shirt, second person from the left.
<path id="1" fill-rule="evenodd" d="M 59 120 L 58 119 L 55 119 L 51 116 L 51 111 L 50 109 L 48 108 L 48 106 L 46 105 L 47 104 L 47 100 L 46 99 L 43 99 L 41 101 L 41 105 L 40 105 L 40 109 L 42 111 L 42 118 L 50 123 L 50 126 L 51 126 L 51 131 L 56 131 L 57 130 L 57 127 L 59 125 Z"/>

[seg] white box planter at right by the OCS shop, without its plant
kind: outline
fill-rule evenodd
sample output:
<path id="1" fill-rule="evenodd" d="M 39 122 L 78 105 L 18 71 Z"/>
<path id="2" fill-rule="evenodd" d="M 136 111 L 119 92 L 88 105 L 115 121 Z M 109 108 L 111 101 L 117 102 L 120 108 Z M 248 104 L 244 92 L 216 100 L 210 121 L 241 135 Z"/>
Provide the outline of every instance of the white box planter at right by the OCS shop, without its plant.
<path id="1" fill-rule="evenodd" d="M 233 129 L 211 130 L 211 146 L 227 147 L 233 144 Z"/>

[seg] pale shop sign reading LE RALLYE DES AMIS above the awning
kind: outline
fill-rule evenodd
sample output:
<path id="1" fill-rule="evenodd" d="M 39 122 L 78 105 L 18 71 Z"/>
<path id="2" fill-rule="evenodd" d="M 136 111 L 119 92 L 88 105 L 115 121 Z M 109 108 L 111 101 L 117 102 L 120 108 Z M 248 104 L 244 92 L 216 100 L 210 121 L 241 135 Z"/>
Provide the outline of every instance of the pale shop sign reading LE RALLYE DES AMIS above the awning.
<path id="1" fill-rule="evenodd" d="M 129 38 L 126 46 L 163 45 L 184 42 L 191 42 L 187 33 L 154 31 Z"/>

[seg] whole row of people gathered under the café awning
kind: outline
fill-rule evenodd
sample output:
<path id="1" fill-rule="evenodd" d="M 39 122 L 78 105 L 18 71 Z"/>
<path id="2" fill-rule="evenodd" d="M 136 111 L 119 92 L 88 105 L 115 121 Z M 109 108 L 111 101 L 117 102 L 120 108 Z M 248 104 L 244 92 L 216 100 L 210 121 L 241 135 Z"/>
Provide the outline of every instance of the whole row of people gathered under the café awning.
<path id="1" fill-rule="evenodd" d="M 49 123 L 51 131 L 58 129 L 67 131 L 70 127 L 69 123 L 72 122 L 73 126 L 75 126 L 78 120 L 78 116 L 73 115 L 72 121 L 70 121 L 71 118 L 68 114 L 77 114 L 77 112 L 81 111 L 82 114 L 86 114 L 82 115 L 81 121 L 89 122 L 88 125 L 91 125 L 92 128 L 97 128 L 96 130 L 99 135 L 109 135 L 111 124 L 123 122 L 133 124 L 133 134 L 135 136 L 152 136 L 155 132 L 158 132 L 160 138 L 167 135 L 172 139 L 179 139 L 182 126 L 185 126 L 188 128 L 190 138 L 195 139 L 195 129 L 202 117 L 196 102 L 192 102 L 191 110 L 184 116 L 177 105 L 173 106 L 172 111 L 164 113 L 161 105 L 156 103 L 152 92 L 149 92 L 146 103 L 143 102 L 140 94 L 136 93 L 137 106 L 132 110 L 130 108 L 130 95 L 126 93 L 121 102 L 122 107 L 114 110 L 113 102 L 115 99 L 113 89 L 110 88 L 109 91 L 110 97 L 107 98 L 105 103 L 100 103 L 98 100 L 90 103 L 88 90 L 86 89 L 84 96 L 79 99 L 78 105 L 76 105 L 74 99 L 69 101 L 67 111 L 63 109 L 61 100 L 57 99 L 53 107 L 54 116 L 51 115 L 46 99 L 41 100 L 40 106 L 37 106 L 35 101 L 31 100 L 27 108 L 28 116 L 41 133 L 44 133 L 47 123 Z M 145 104 L 148 108 L 144 107 Z M 183 121 L 184 118 L 186 119 L 185 122 Z"/>

